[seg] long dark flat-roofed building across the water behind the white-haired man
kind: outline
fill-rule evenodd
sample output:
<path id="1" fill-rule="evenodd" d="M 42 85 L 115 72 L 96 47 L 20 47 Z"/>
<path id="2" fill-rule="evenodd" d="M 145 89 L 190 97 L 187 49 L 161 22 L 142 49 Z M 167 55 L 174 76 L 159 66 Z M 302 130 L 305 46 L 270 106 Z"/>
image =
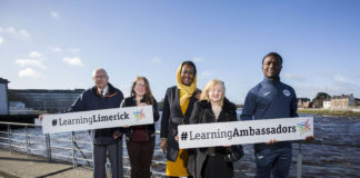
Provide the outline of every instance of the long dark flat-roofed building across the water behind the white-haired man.
<path id="1" fill-rule="evenodd" d="M 68 109 L 82 91 L 84 90 L 10 89 L 9 100 L 23 102 L 33 110 L 56 112 Z"/>

